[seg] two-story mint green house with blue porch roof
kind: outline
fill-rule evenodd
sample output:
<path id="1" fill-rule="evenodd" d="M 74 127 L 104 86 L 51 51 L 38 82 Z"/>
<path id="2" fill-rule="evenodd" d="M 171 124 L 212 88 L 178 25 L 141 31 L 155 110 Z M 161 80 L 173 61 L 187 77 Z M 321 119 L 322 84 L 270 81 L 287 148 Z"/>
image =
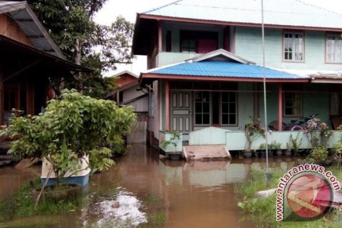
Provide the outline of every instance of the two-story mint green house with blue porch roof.
<path id="1" fill-rule="evenodd" d="M 133 53 L 147 55 L 140 85 L 153 88 L 148 128 L 156 139 L 173 129 L 190 145 L 243 150 L 251 116 L 264 126 L 277 121 L 270 140 L 285 149 L 291 132 L 283 122 L 341 116 L 342 15 L 265 0 L 265 69 L 261 18 L 260 0 L 180 0 L 137 14 Z"/>

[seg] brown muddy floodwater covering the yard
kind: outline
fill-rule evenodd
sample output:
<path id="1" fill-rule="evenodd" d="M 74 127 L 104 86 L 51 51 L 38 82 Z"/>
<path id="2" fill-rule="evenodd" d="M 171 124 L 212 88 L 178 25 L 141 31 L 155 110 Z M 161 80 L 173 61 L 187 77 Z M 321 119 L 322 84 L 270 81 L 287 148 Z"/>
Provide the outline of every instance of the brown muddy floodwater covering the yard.
<path id="1" fill-rule="evenodd" d="M 127 156 L 117 159 L 108 171 L 90 177 L 87 196 L 80 210 L 66 215 L 21 218 L 0 227 L 161 227 L 238 228 L 253 225 L 241 221 L 239 197 L 234 183 L 250 179 L 252 169 L 264 170 L 265 159 L 190 162 L 161 161 L 145 145 L 133 145 Z M 286 172 L 291 158 L 271 158 L 270 166 Z M 0 169 L 0 199 L 39 174 L 39 167 L 18 171 Z M 120 203 L 113 208 L 113 202 Z M 157 215 L 154 203 L 162 204 Z M 165 220 L 161 224 L 160 220 Z"/>

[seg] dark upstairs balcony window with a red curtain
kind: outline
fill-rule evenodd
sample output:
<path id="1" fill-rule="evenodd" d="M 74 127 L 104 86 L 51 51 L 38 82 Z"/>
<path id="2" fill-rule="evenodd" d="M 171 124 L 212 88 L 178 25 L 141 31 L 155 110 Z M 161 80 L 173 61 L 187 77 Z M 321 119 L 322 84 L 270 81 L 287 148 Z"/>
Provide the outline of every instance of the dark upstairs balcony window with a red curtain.
<path id="1" fill-rule="evenodd" d="M 180 31 L 180 51 L 205 54 L 218 49 L 218 32 Z"/>

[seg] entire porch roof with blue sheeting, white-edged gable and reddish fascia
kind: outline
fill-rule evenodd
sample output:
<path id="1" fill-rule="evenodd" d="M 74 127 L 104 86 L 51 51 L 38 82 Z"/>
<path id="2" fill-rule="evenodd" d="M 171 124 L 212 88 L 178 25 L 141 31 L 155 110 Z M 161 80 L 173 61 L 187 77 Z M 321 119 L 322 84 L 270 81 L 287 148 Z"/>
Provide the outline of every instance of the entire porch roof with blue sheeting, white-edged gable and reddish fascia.
<path id="1" fill-rule="evenodd" d="M 222 59 L 222 55 L 226 59 Z M 308 81 L 310 77 L 300 76 L 285 71 L 253 64 L 224 50 L 216 50 L 208 54 L 147 70 L 140 76 L 140 83 L 146 79 L 188 79 L 188 80 L 219 80 L 219 81 Z"/>

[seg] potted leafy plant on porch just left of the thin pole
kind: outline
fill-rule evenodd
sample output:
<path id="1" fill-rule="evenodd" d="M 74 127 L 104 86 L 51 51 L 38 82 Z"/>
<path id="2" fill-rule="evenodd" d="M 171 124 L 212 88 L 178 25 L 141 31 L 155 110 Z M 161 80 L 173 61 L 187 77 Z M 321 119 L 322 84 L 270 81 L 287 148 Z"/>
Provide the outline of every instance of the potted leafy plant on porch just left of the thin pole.
<path id="1" fill-rule="evenodd" d="M 260 128 L 260 118 L 257 118 L 255 121 L 250 117 L 251 121 L 246 123 L 245 125 L 245 136 L 246 136 L 246 145 L 244 151 L 245 158 L 252 157 L 252 143 L 255 139 L 259 138 L 260 136 L 265 135 L 265 129 Z"/>

